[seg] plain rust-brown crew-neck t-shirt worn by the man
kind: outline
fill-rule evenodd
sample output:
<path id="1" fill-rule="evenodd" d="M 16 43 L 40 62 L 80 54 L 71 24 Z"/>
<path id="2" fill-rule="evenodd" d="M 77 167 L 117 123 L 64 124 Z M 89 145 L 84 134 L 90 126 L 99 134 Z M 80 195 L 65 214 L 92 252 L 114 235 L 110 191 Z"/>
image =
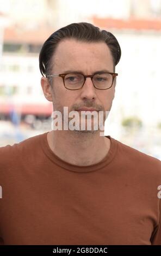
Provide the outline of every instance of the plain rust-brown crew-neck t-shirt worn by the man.
<path id="1" fill-rule="evenodd" d="M 47 133 L 0 148 L 4 245 L 161 245 L 161 162 L 116 139 L 106 157 L 75 166 Z"/>

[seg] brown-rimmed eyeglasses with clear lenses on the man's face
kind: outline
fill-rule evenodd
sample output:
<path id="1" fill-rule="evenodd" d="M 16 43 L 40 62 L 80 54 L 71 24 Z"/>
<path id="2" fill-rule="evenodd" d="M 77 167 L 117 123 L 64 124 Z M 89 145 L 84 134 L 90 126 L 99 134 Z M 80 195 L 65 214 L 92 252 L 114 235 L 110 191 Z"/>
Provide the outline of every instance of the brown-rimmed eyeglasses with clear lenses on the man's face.
<path id="1" fill-rule="evenodd" d="M 106 90 L 112 87 L 114 78 L 117 73 L 104 72 L 95 75 L 83 75 L 83 74 L 53 74 L 47 77 L 62 77 L 64 87 L 69 90 L 78 90 L 84 86 L 87 77 L 91 78 L 91 81 L 96 89 Z"/>

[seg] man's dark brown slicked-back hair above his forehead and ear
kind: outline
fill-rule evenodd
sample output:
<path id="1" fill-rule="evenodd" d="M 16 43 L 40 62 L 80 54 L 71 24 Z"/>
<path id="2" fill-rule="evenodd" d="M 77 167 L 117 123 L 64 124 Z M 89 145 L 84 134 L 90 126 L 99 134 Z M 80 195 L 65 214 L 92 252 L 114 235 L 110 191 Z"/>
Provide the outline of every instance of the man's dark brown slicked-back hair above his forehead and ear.
<path id="1" fill-rule="evenodd" d="M 91 23 L 72 23 L 55 31 L 42 45 L 39 55 L 39 68 L 42 76 L 51 75 L 51 60 L 58 43 L 66 38 L 76 39 L 83 42 L 106 42 L 112 53 L 114 70 L 121 58 L 121 48 L 115 36 L 105 30 L 95 27 Z"/>

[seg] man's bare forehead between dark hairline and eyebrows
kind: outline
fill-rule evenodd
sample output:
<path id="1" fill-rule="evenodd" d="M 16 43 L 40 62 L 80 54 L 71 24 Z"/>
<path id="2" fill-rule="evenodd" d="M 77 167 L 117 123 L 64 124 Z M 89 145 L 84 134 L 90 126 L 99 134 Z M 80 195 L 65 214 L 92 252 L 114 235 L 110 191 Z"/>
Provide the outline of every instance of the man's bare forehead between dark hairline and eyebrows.
<path id="1" fill-rule="evenodd" d="M 54 56 L 53 65 L 67 65 L 67 69 L 76 64 L 77 68 L 80 62 L 84 64 L 94 64 L 101 62 L 106 64 L 110 62 L 113 65 L 112 55 L 105 42 L 82 42 L 74 39 L 66 39 L 59 43 Z M 70 62 L 70 64 L 69 64 Z M 102 66 L 102 68 L 105 68 Z"/>

